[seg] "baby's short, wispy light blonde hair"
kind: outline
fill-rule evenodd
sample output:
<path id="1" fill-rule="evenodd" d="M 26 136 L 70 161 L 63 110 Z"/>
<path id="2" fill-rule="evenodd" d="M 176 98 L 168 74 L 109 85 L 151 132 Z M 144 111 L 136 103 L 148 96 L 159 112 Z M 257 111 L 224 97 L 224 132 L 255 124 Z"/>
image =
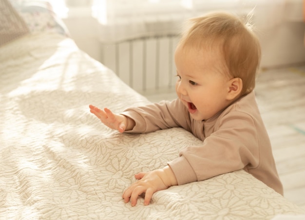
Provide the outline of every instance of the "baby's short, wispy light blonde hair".
<path id="1" fill-rule="evenodd" d="M 178 46 L 210 47 L 222 52 L 227 74 L 243 81 L 241 95 L 255 87 L 261 47 L 248 21 L 225 12 L 214 12 L 189 20 Z M 215 46 L 215 47 L 214 47 Z"/>

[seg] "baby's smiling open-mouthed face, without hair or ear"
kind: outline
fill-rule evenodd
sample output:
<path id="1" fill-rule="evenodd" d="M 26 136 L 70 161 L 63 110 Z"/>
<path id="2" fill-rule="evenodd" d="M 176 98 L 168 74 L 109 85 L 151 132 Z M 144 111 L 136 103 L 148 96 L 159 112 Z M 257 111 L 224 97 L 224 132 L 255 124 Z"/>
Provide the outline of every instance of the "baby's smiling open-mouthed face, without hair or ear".
<path id="1" fill-rule="evenodd" d="M 176 93 L 194 120 L 208 120 L 229 105 L 229 76 L 219 52 L 178 47 Z"/>

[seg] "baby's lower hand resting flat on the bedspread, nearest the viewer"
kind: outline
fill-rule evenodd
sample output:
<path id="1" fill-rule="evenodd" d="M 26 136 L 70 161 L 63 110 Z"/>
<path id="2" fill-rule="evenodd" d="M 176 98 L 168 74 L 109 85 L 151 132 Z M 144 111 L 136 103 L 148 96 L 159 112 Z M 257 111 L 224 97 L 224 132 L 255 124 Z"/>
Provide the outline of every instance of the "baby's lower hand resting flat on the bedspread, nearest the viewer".
<path id="1" fill-rule="evenodd" d="M 170 166 L 147 173 L 141 172 L 134 176 L 137 181 L 123 193 L 124 202 L 126 203 L 130 200 L 132 206 L 136 205 L 138 196 L 142 193 L 145 193 L 144 204 L 148 205 L 153 193 L 178 185 Z"/>

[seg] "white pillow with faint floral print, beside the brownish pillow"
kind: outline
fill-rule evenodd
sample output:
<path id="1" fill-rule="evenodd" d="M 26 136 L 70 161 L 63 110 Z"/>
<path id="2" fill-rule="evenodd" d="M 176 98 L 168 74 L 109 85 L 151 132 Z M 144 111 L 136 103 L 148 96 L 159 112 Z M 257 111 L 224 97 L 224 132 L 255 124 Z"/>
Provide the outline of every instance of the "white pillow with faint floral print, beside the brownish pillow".
<path id="1" fill-rule="evenodd" d="M 46 0 L 11 0 L 12 5 L 26 22 L 31 33 L 56 32 L 70 36 L 63 21 L 57 17 Z"/>

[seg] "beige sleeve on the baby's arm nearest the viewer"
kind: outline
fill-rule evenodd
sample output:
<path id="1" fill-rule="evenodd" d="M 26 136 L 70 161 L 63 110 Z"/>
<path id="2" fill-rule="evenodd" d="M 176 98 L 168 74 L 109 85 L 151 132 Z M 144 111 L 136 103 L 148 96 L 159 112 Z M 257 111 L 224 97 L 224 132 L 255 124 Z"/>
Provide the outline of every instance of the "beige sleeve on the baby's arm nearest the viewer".
<path id="1" fill-rule="evenodd" d="M 258 138 L 252 118 L 230 112 L 218 124 L 201 146 L 187 147 L 180 152 L 180 158 L 169 162 L 178 184 L 258 166 Z"/>

